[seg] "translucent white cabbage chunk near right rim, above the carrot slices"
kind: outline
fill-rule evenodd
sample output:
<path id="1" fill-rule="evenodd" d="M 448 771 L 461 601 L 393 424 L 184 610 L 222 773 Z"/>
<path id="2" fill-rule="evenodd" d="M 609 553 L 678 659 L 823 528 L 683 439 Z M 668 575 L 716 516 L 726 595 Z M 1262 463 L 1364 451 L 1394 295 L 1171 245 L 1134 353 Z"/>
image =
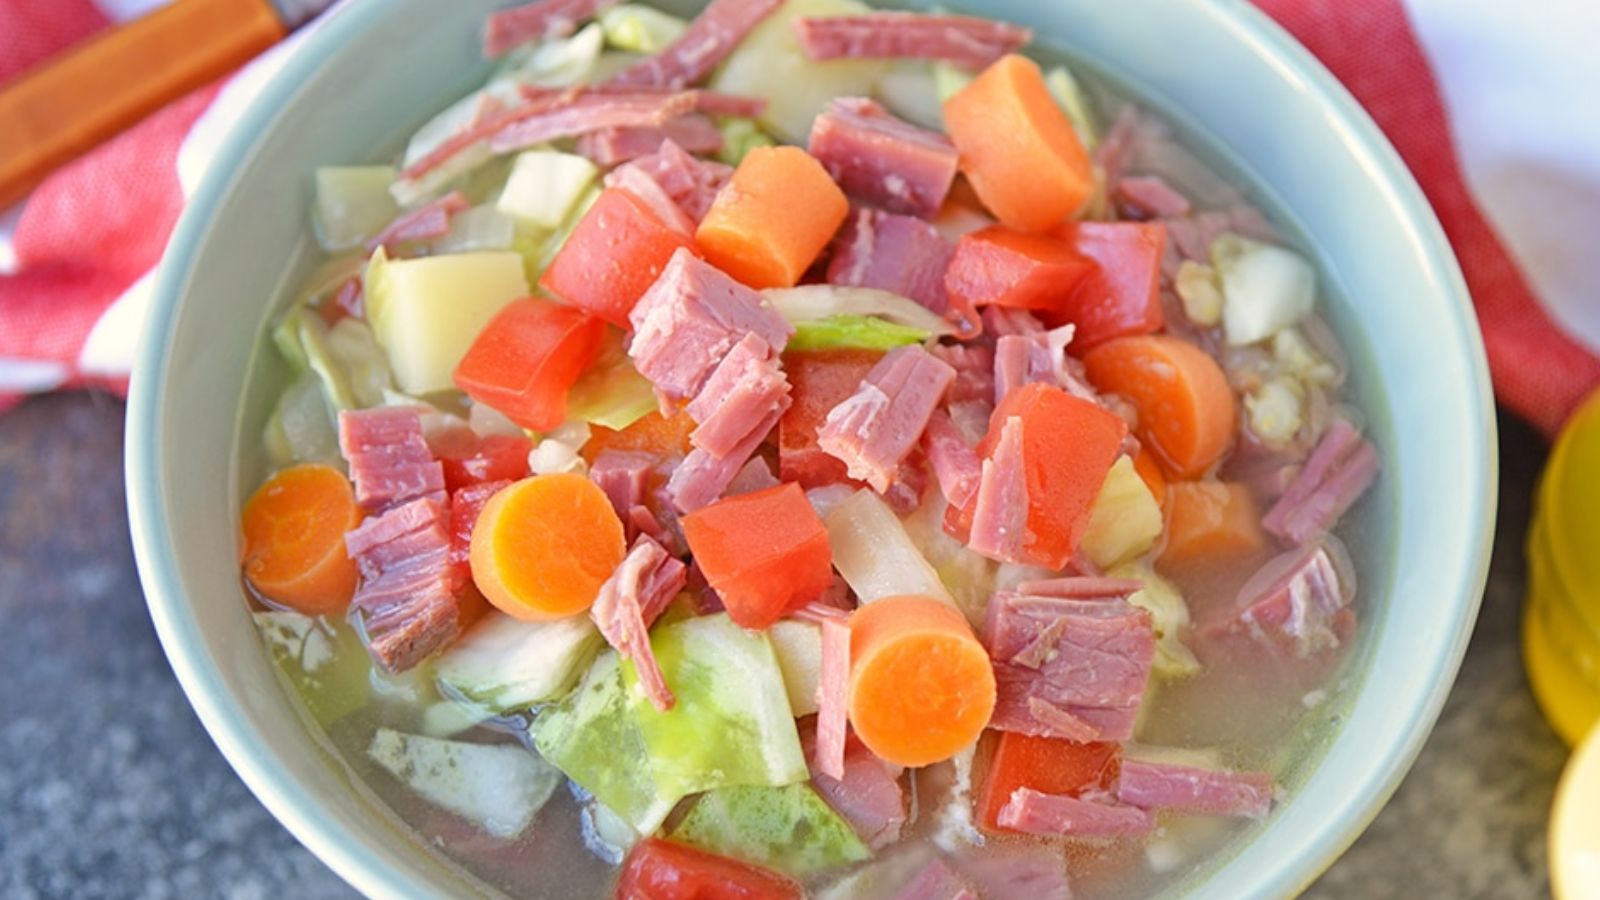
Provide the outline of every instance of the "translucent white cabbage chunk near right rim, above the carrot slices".
<path id="1" fill-rule="evenodd" d="M 1222 283 L 1229 344 L 1270 338 L 1304 319 L 1315 303 L 1317 274 L 1293 250 L 1229 232 L 1211 243 L 1211 264 Z"/>

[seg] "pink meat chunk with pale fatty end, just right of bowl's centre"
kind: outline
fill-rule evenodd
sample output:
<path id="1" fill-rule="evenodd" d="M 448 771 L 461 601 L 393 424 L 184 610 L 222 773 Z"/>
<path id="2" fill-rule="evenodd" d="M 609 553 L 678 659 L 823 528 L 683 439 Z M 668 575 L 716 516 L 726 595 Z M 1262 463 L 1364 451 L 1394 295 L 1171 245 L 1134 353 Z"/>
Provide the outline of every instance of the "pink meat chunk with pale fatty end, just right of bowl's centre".
<path id="1" fill-rule="evenodd" d="M 955 370 L 920 346 L 894 348 L 827 413 L 818 447 L 843 461 L 850 477 L 883 493 L 952 381 Z"/>

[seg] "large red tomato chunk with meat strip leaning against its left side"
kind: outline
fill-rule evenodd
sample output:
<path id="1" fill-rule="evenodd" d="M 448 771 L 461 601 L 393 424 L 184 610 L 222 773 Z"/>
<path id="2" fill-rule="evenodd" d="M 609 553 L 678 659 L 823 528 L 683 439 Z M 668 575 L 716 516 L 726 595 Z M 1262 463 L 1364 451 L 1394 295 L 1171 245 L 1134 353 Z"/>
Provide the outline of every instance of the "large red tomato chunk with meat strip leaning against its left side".
<path id="1" fill-rule="evenodd" d="M 978 455 L 989 460 L 1000 429 L 1011 416 L 1022 420 L 1022 468 L 1027 484 L 1027 532 L 1022 548 L 1030 564 L 1061 569 L 1078 548 L 1090 524 L 1106 472 L 1122 453 L 1128 424 L 1098 404 L 1074 397 L 1054 384 L 1024 384 L 1011 391 L 989 420 Z M 966 540 L 976 500 L 946 530 Z"/>

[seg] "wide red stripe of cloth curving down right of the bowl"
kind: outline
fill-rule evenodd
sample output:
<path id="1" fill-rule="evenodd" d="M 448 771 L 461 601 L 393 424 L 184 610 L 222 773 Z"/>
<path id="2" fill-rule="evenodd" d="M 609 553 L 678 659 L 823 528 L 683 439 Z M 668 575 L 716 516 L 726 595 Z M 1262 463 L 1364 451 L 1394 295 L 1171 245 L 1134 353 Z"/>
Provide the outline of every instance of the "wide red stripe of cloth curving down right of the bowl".
<path id="1" fill-rule="evenodd" d="M 1434 72 L 1398 0 L 1256 0 L 1306 45 L 1384 130 L 1416 175 L 1472 290 L 1494 392 L 1555 436 L 1600 384 L 1600 359 L 1539 304 L 1467 192 Z"/>

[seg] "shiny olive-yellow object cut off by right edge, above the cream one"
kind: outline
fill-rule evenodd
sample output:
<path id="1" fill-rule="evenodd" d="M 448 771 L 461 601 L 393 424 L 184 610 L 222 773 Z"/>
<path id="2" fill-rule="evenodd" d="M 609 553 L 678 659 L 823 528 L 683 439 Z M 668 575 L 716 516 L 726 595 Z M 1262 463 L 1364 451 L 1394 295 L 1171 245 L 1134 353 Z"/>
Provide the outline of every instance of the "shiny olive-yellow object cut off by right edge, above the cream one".
<path id="1" fill-rule="evenodd" d="M 1539 706 L 1570 745 L 1600 721 L 1597 549 L 1600 391 L 1589 396 L 1555 442 L 1528 533 L 1523 657 Z"/>

